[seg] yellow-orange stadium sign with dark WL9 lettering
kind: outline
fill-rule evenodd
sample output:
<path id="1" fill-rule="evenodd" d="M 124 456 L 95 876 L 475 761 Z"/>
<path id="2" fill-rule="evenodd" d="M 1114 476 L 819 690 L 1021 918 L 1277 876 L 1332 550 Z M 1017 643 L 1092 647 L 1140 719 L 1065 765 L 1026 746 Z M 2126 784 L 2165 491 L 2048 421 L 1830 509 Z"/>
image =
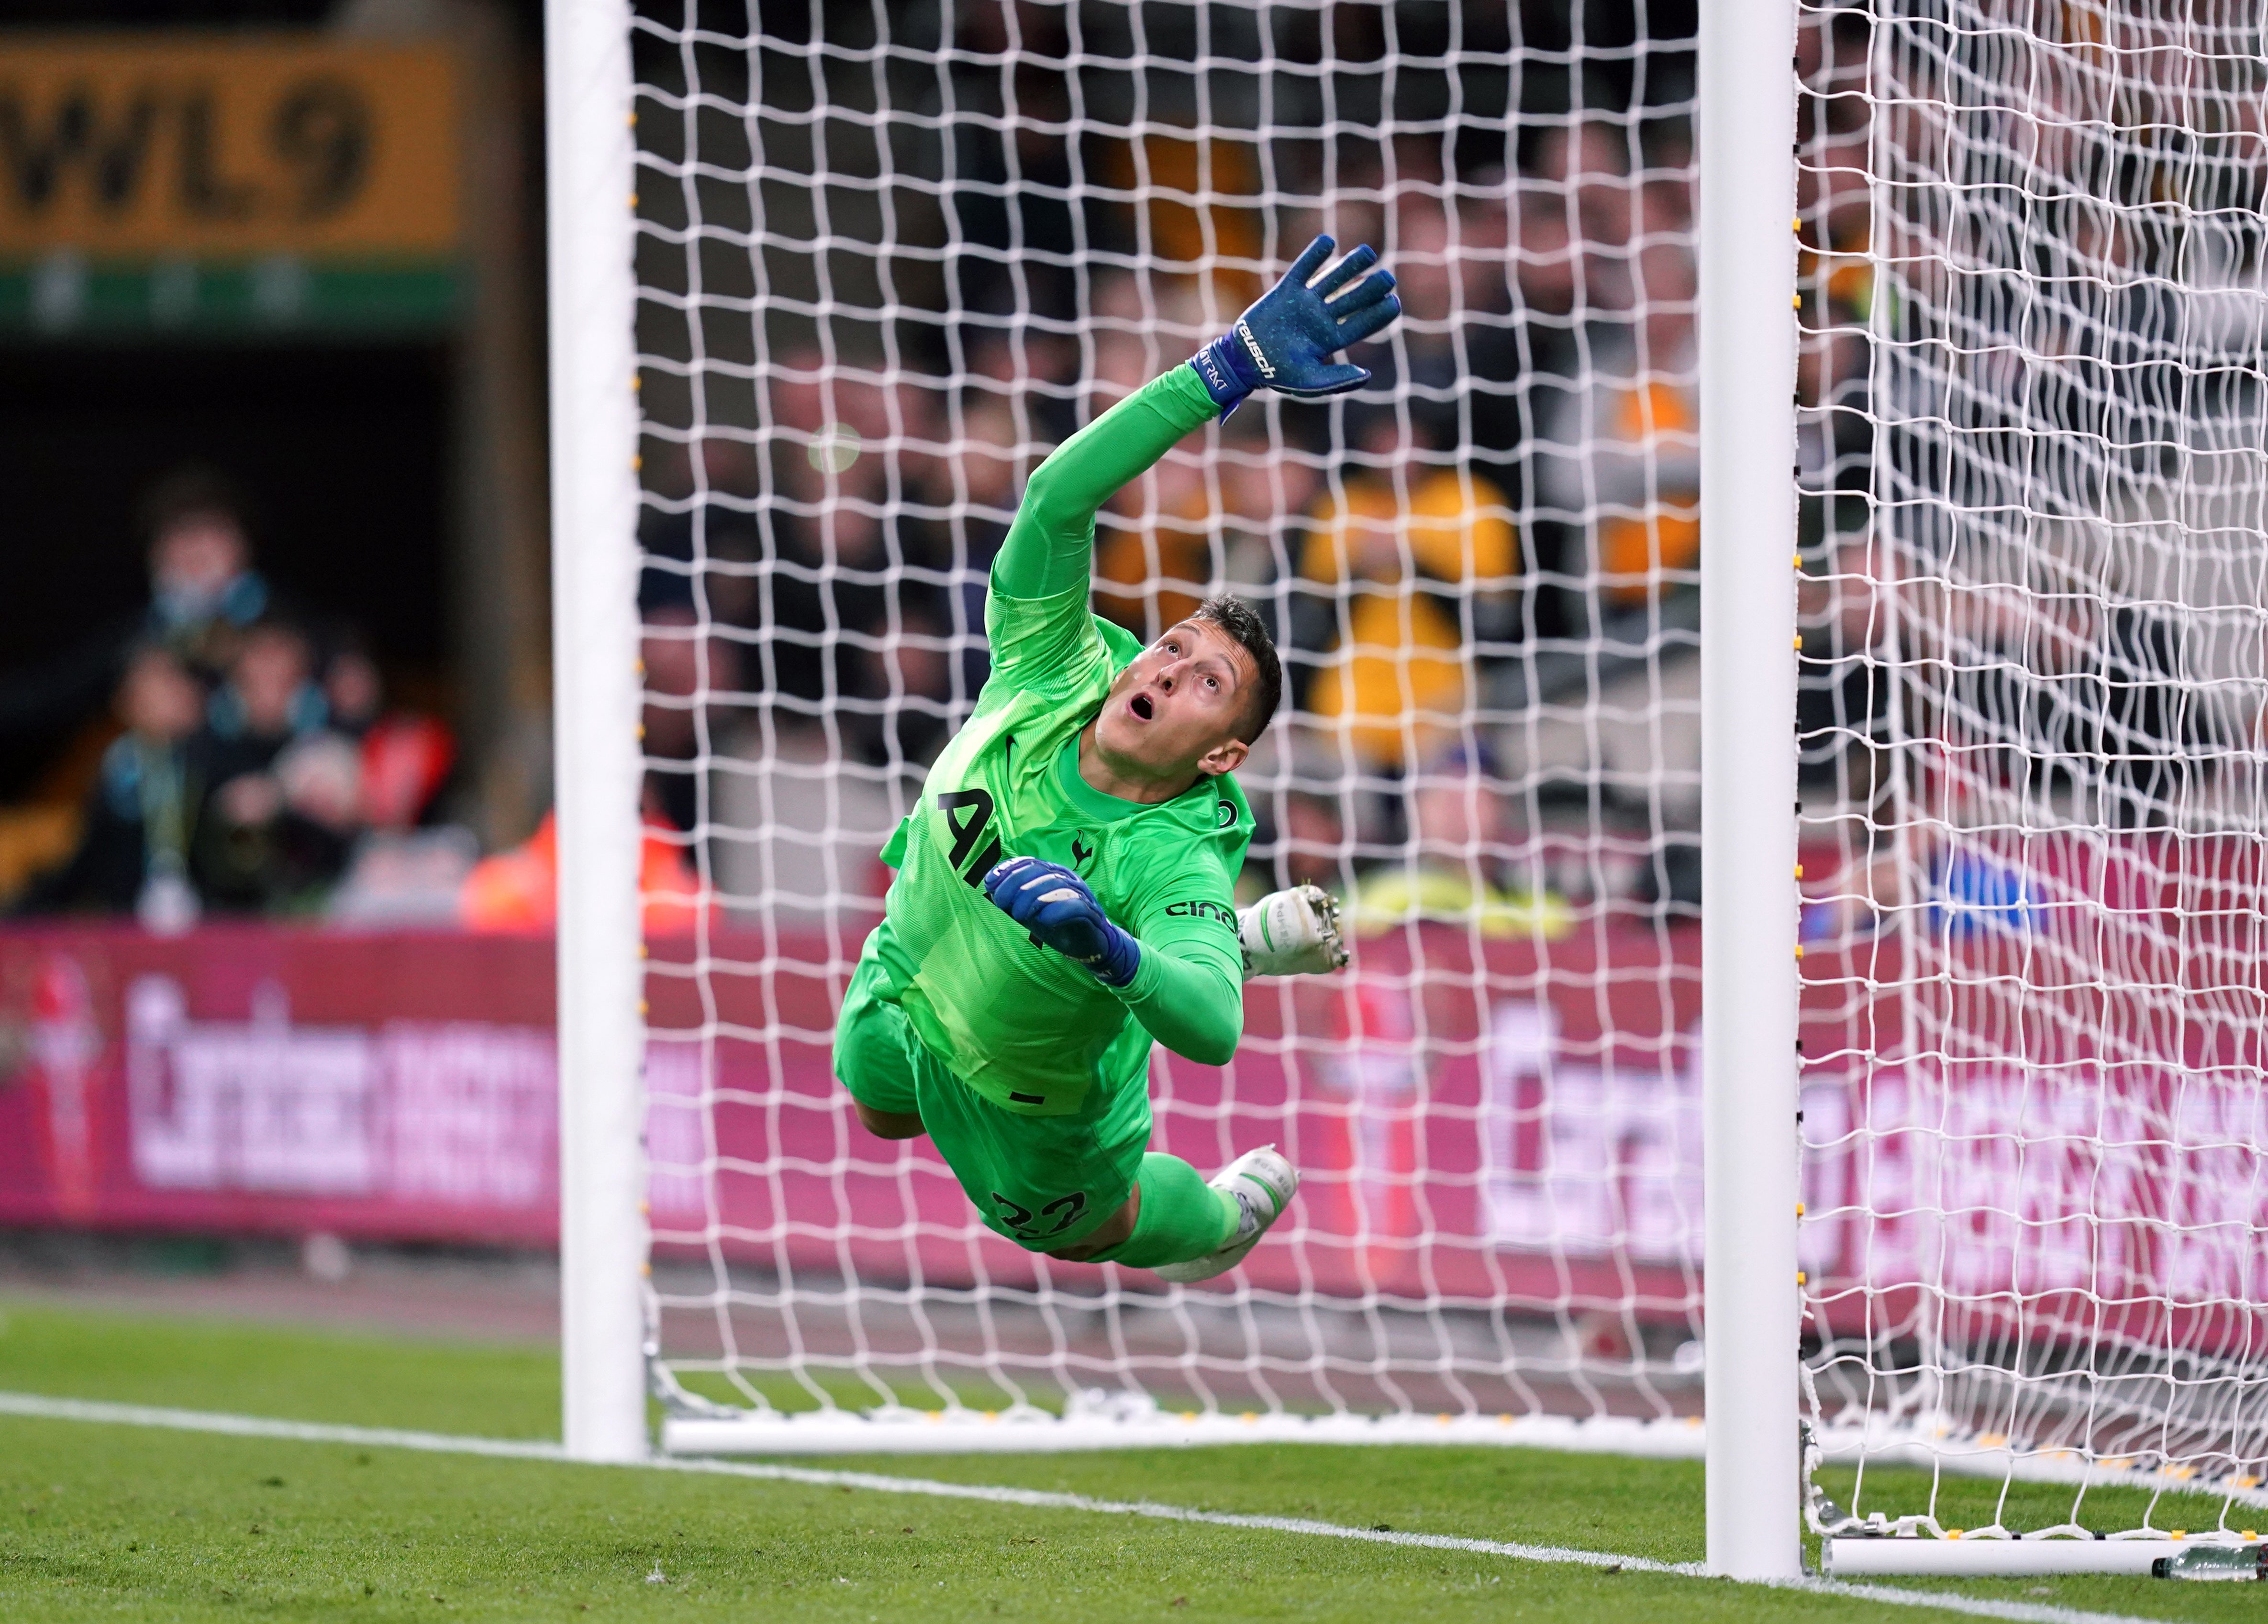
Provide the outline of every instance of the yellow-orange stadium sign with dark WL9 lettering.
<path id="1" fill-rule="evenodd" d="M 456 70 L 320 36 L 0 36 L 0 259 L 447 259 Z"/>

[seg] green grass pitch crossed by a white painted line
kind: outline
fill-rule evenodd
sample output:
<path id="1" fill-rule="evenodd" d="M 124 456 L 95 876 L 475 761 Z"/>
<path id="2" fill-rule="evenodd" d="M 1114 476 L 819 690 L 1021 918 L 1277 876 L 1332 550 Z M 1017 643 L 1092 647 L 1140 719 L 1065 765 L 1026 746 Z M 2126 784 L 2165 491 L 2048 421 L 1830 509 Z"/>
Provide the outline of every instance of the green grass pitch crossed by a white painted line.
<path id="1" fill-rule="evenodd" d="M 540 1350 L 23 1302 L 0 1316 L 0 1388 L 11 1393 L 556 1436 L 558 1368 Z M 1701 1556 L 1696 1463 L 1243 1447 L 816 1465 Z M 0 1619 L 1955 1617 L 1817 1590 L 1082 1511 L 25 1418 L 0 1418 Z M 2248 1585 L 2136 1579 L 1941 1590 L 2041 1619 L 2252 1619 L 2268 1606 Z"/>

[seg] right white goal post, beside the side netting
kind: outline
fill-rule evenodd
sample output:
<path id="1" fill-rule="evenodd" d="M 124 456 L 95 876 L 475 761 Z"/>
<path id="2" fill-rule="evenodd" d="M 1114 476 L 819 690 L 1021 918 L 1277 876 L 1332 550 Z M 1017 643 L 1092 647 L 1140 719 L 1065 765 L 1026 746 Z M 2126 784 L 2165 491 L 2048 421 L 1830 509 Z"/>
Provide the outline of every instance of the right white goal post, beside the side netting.
<path id="1" fill-rule="evenodd" d="M 1701 1100 L 1708 1565 L 1796 1536 L 1794 0 L 1701 7 Z M 1783 810 L 1785 807 L 1785 810 Z"/>

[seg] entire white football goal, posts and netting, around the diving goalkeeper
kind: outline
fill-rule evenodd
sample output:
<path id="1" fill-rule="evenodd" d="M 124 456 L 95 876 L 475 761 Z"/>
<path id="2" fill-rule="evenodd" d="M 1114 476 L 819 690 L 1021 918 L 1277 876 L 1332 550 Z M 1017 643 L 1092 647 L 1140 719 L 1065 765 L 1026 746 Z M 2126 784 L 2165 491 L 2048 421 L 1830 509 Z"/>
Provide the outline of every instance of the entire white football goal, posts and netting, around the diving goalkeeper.
<path id="1" fill-rule="evenodd" d="M 2261 29 L 1687 11 L 547 2 L 569 1452 L 1706 1452 L 1753 1579 L 2250 1538 Z M 1025 474 L 1318 229 L 1372 386 L 1095 544 L 1284 649 L 1241 900 L 1354 966 L 1152 1100 L 1302 1193 L 1050 1263 L 835 1012 Z"/>

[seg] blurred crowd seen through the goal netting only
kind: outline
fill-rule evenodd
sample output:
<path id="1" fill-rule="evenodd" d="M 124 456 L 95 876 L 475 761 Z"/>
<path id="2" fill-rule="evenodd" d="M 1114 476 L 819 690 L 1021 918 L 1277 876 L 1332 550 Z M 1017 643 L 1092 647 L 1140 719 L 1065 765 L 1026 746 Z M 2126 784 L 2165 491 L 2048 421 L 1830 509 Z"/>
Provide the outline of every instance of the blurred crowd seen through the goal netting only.
<path id="1" fill-rule="evenodd" d="M 1803 34 L 1805 794 L 1898 819 L 1880 755 L 1901 728 L 1946 762 L 1984 760 L 1971 735 L 2003 758 L 2046 739 L 2062 764 L 2003 762 L 1998 778 L 2100 798 L 2123 828 L 2164 823 L 2170 769 L 2148 760 L 2209 744 L 2180 721 L 2175 626 L 2105 608 L 2062 635 L 2073 671 L 2025 651 L 2030 621 L 1980 628 L 1973 649 L 1953 646 L 1969 633 L 1950 621 L 1916 626 L 1903 660 L 1944 649 L 1987 671 L 1975 692 L 1932 694 L 1912 678 L 1894 690 L 1887 626 L 1855 608 L 1896 567 L 1869 515 L 1873 345 L 1910 318 L 1876 308 L 1867 59 L 1862 32 Z M 964 88 L 971 109 L 1007 107 L 998 84 Z M 1329 231 L 1374 243 L 1399 277 L 1404 320 L 1354 356 L 1374 383 L 1329 404 L 1252 401 L 1136 481 L 1098 526 L 1098 612 L 1154 635 L 1232 587 L 1272 615 L 1288 714 L 1247 773 L 1268 785 L 1254 882 L 1315 878 L 1374 921 L 1438 914 L 1506 932 L 1558 930 L 1590 903 L 1692 912 L 1687 109 L 1631 100 L 1524 118 L 1497 163 L 1436 136 L 1325 157 L 1322 143 L 1261 154 L 1173 129 L 1075 159 L 1041 138 L 1050 95 L 1061 100 L 1018 73 L 1012 102 L 1030 118 L 964 132 L 962 172 L 998 186 L 957 197 L 964 247 L 941 272 L 943 313 L 894 333 L 846 315 L 780 322 L 758 345 L 742 426 L 658 440 L 649 814 L 687 851 L 719 830 L 730 846 L 841 828 L 846 792 L 801 812 L 780 794 L 719 812 L 705 803 L 719 762 L 726 776 L 735 760 L 794 762 L 816 780 L 846 760 L 909 778 L 984 678 L 984 572 L 1030 467 L 1234 320 L 1263 265 Z M 998 150 L 978 152 L 987 141 Z M 1139 186 L 1141 202 L 1061 202 L 1080 175 Z M 2075 252 L 2109 256 L 2100 243 Z M 2127 327 L 2148 329 L 2141 306 Z M 1907 714 L 1894 719 L 1894 703 Z M 728 889 L 798 885 L 814 882 L 782 864 Z"/>

